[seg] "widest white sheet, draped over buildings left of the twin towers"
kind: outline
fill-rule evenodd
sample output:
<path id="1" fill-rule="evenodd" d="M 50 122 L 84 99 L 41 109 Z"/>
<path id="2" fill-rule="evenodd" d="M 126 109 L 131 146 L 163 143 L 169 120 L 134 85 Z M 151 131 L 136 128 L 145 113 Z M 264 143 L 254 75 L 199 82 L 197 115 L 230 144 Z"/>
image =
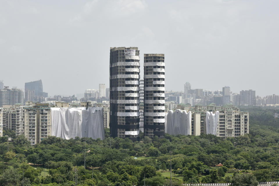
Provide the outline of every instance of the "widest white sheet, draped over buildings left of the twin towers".
<path id="1" fill-rule="evenodd" d="M 51 135 L 62 139 L 92 137 L 104 139 L 103 108 L 51 108 Z"/>

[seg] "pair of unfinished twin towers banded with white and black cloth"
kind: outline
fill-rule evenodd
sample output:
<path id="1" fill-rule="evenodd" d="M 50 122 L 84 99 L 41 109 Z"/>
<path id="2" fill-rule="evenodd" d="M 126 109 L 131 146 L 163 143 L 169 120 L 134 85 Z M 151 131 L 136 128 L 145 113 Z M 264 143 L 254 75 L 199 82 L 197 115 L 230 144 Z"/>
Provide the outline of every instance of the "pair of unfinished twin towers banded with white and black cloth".
<path id="1" fill-rule="evenodd" d="M 139 140 L 144 135 L 164 137 L 164 54 L 144 54 L 144 87 L 140 87 L 140 51 L 137 47 L 110 48 L 110 134 Z M 142 83 L 141 83 L 142 85 Z M 143 122 L 140 97 L 144 96 Z M 140 123 L 143 126 L 140 126 Z"/>

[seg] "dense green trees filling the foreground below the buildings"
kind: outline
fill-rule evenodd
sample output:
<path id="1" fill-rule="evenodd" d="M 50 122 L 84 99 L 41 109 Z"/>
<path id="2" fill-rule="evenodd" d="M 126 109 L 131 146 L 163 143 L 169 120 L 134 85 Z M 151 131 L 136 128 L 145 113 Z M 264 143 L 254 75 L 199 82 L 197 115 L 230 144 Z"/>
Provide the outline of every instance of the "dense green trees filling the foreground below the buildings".
<path id="1" fill-rule="evenodd" d="M 248 109 L 250 134 L 226 140 L 214 135 L 166 134 L 164 139 L 142 136 L 132 142 L 110 139 L 106 130 L 105 140 L 86 138 L 85 168 L 85 138 L 52 136 L 31 146 L 24 136 L 10 143 L 1 137 L 0 186 L 22 185 L 22 178 L 24 185 L 75 185 L 75 169 L 78 185 L 144 185 L 144 178 L 146 185 L 170 185 L 170 174 L 166 174 L 170 166 L 172 185 L 278 181 L 279 128 L 274 126 L 273 110 L 265 110 L 268 114 L 260 117 L 264 109 Z M 219 163 L 223 166 L 216 167 Z M 47 176 L 42 174 L 45 170 Z"/>

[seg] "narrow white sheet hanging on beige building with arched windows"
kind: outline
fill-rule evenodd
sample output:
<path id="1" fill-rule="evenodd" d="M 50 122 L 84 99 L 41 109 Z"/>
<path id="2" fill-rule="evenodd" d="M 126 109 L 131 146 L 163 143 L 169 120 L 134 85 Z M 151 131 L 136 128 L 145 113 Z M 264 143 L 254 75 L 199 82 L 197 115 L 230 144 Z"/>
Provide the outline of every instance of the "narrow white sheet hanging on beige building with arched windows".
<path id="1" fill-rule="evenodd" d="M 215 114 L 212 112 L 206 112 L 205 124 L 206 124 L 206 134 L 216 135 L 216 130 L 219 121 L 219 111 L 216 111 Z"/>

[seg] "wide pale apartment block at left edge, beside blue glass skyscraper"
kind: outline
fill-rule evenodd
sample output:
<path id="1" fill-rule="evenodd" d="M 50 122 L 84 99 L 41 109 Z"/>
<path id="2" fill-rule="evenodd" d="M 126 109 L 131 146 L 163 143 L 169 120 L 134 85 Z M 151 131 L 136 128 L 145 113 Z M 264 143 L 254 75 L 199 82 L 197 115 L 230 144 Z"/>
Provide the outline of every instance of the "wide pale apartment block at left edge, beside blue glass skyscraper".
<path id="1" fill-rule="evenodd" d="M 3 105 L 15 105 L 17 103 L 23 104 L 24 102 L 24 92 L 17 87 L 10 89 L 9 87 L 4 87 L 0 90 L 0 107 Z"/>

